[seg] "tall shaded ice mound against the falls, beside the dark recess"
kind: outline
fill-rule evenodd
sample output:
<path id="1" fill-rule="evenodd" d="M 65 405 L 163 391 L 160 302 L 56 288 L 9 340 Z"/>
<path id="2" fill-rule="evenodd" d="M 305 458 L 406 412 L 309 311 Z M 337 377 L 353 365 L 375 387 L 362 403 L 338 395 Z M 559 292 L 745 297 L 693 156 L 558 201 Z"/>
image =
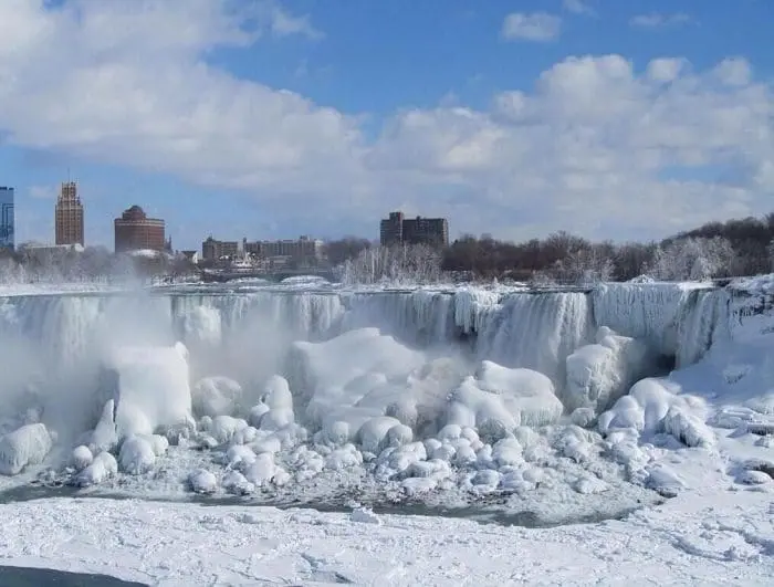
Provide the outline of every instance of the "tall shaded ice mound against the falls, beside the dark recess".
<path id="1" fill-rule="evenodd" d="M 567 409 L 592 408 L 600 413 L 652 368 L 652 359 L 644 343 L 602 327 L 597 343 L 578 348 L 566 365 Z"/>

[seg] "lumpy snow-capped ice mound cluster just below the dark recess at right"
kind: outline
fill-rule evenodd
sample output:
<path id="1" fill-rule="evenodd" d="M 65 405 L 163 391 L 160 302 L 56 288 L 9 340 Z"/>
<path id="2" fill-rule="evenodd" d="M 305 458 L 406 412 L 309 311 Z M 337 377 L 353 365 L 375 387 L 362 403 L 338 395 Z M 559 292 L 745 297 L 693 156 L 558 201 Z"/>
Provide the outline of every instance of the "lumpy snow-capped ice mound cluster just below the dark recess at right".
<path id="1" fill-rule="evenodd" d="M 597 422 L 600 433 L 634 429 L 648 436 L 667 433 L 688 447 L 710 448 L 714 432 L 707 426 L 707 405 L 701 398 L 677 395 L 680 388 L 662 379 L 642 379 L 604 412 Z"/>

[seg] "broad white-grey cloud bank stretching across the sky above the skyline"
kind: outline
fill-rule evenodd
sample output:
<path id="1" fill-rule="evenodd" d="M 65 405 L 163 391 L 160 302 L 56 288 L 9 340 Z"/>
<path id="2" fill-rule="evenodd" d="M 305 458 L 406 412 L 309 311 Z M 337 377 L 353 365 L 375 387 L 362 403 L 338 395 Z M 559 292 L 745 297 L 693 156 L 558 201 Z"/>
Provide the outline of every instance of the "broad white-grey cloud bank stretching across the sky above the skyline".
<path id="1" fill-rule="evenodd" d="M 273 34 L 243 6 L 0 2 L 0 133 L 242 190 L 275 220 L 308 217 L 327 233 L 375 230 L 404 207 L 447 214 L 452 233 L 658 237 L 774 201 L 774 96 L 741 57 L 705 71 L 567 57 L 489 107 L 399 109 L 373 137 L 374 118 L 208 62 Z"/>

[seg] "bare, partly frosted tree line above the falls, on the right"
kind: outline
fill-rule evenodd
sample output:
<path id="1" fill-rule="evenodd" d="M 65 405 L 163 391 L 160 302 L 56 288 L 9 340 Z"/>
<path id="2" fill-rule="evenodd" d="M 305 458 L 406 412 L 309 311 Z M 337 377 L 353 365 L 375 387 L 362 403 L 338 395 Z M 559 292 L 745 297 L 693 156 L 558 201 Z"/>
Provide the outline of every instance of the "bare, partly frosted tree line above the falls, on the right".
<path id="1" fill-rule="evenodd" d="M 441 274 L 536 284 L 756 275 L 774 271 L 774 212 L 709 222 L 660 242 L 592 242 L 564 231 L 520 243 L 466 234 L 439 250 L 385 249 L 348 237 L 328 242 L 326 254 L 351 282 L 435 281 Z"/>

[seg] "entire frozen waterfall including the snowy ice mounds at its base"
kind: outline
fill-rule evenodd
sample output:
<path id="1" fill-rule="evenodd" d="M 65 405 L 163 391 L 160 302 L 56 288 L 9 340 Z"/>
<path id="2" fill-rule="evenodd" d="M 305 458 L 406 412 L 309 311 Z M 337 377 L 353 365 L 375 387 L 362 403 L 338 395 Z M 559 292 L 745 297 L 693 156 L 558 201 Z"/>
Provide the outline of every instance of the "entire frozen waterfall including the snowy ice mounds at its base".
<path id="1" fill-rule="evenodd" d="M 766 483 L 745 463 L 774 430 L 768 290 L 315 287 L 0 300 L 0 366 L 19 364 L 1 431 L 64 449 L 3 448 L 6 473 L 558 507 L 673 495 L 722 454 L 733 482 Z"/>

